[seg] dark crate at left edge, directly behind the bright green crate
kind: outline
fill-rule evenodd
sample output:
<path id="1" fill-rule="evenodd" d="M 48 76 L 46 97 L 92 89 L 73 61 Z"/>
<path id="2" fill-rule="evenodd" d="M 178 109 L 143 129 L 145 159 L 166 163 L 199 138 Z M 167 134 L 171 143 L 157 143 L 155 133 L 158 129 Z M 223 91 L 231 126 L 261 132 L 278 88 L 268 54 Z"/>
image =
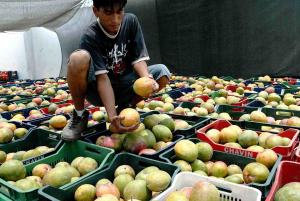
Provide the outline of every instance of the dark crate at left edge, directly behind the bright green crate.
<path id="1" fill-rule="evenodd" d="M 54 148 L 54 150 L 51 152 L 22 161 L 23 164 L 29 164 L 55 153 L 62 144 L 62 141 L 60 141 L 59 139 L 60 138 L 56 133 L 37 128 L 30 130 L 28 134 L 22 139 L 18 139 L 7 144 L 1 144 L 0 149 L 5 153 L 10 153 L 17 151 L 28 151 L 38 146 L 47 146 L 49 148 Z"/>

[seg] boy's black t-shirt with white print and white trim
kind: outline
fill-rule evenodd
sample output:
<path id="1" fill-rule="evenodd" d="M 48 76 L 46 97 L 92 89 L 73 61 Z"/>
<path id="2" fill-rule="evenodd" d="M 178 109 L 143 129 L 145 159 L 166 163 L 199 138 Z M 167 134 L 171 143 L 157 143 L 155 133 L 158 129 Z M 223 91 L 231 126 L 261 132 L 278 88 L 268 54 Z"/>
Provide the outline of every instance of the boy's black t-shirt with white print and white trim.
<path id="1" fill-rule="evenodd" d="M 119 32 L 110 36 L 96 21 L 82 36 L 80 49 L 87 50 L 95 75 L 107 73 L 112 83 L 133 71 L 133 64 L 149 60 L 142 29 L 133 14 L 124 14 Z"/>

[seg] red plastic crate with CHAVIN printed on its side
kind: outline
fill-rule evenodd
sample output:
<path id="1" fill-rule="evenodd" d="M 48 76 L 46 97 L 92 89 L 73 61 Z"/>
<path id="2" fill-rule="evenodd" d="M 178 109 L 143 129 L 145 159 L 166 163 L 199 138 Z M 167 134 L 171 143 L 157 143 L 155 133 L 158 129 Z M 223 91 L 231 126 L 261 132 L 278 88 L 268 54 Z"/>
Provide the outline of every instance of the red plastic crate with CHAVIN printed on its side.
<path id="1" fill-rule="evenodd" d="M 246 149 L 240 149 L 240 148 L 233 148 L 233 147 L 227 147 L 223 144 L 215 143 L 212 141 L 209 137 L 205 135 L 205 133 L 210 129 L 217 129 L 221 131 L 223 128 L 226 128 L 228 126 L 232 125 L 230 122 L 226 120 L 216 120 L 207 126 L 204 126 L 203 128 L 197 130 L 197 137 L 201 139 L 204 142 L 209 143 L 214 150 L 222 151 L 226 153 L 236 154 L 236 155 L 242 155 L 246 157 L 256 157 L 258 152 L 255 151 L 249 151 Z M 257 132 L 260 134 L 260 132 Z M 274 134 L 276 135 L 276 134 Z M 275 151 L 277 154 L 281 154 L 283 157 L 283 160 L 292 160 L 294 149 L 297 146 L 298 143 L 298 136 L 299 136 L 299 130 L 289 128 L 281 133 L 278 134 L 281 137 L 287 137 L 291 139 L 291 143 L 289 146 L 277 146 L 272 148 L 273 151 Z"/>

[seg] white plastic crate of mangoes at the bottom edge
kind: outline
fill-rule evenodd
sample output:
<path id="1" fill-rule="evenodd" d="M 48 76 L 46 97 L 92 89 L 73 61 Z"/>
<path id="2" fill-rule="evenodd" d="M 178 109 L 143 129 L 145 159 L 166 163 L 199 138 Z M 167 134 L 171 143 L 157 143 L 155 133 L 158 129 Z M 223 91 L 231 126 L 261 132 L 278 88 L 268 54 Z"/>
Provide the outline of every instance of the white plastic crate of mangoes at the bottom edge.
<path id="1" fill-rule="evenodd" d="M 220 191 L 220 201 L 260 201 L 261 192 L 246 185 L 234 184 L 220 179 L 205 177 L 191 172 L 181 172 L 175 176 L 172 185 L 152 199 L 152 201 L 165 201 L 167 196 L 184 187 L 192 187 L 198 181 L 207 181 L 214 184 Z"/>

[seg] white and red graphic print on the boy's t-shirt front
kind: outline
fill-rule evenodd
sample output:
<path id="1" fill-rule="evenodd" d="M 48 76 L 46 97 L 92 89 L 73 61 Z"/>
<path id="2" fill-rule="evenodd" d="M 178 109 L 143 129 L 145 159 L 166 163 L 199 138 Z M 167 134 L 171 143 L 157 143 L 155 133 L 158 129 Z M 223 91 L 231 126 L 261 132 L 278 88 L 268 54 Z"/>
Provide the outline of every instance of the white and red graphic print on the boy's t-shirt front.
<path id="1" fill-rule="evenodd" d="M 107 56 L 105 56 L 106 60 L 106 68 L 112 70 L 115 75 L 122 75 L 126 70 L 126 64 L 124 58 L 127 55 L 126 44 L 115 44 L 114 47 L 108 51 Z"/>

